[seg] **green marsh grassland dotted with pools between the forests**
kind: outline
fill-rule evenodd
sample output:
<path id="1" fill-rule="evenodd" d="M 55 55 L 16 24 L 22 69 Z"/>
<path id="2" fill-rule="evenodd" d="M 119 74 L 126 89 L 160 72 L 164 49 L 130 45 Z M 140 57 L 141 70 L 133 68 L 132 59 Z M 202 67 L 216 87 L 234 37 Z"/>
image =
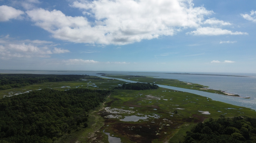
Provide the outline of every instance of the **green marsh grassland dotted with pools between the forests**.
<path id="1" fill-rule="evenodd" d="M 201 90 L 198 84 L 188 84 L 179 80 L 153 77 L 109 76 L 138 82 L 154 83 L 181 88 Z M 84 79 L 74 82 L 53 82 L 34 84 L 22 88 L 1 90 L 0 96 L 53 88 L 68 90 L 72 88 L 107 89 L 111 95 L 100 107 L 89 112 L 88 128 L 64 135 L 58 142 L 107 142 L 111 136 L 121 138 L 121 142 L 179 142 L 186 131 L 205 119 L 248 116 L 256 117 L 256 112 L 191 93 L 166 88 L 154 90 L 121 90 L 114 87 L 126 82 L 116 79 Z M 205 91 L 205 90 L 203 90 Z M 216 92 L 209 91 L 208 92 Z"/>

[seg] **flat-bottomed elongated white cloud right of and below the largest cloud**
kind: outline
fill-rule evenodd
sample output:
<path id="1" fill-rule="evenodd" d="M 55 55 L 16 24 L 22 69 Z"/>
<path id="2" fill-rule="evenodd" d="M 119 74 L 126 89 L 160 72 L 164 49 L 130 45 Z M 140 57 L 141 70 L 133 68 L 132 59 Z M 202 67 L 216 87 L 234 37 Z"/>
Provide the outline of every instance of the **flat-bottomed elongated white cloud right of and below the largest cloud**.
<path id="1" fill-rule="evenodd" d="M 187 32 L 191 35 L 247 35 L 246 32 L 232 32 L 230 30 L 214 28 L 214 27 L 200 27 L 196 31 Z"/>

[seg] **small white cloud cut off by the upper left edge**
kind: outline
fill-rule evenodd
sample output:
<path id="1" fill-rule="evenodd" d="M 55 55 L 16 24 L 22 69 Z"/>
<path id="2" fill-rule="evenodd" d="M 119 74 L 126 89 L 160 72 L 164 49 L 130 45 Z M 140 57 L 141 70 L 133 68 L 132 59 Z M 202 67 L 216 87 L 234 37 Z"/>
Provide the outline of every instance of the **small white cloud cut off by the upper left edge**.
<path id="1" fill-rule="evenodd" d="M 0 6 L 0 22 L 9 21 L 10 19 L 17 19 L 21 14 L 24 14 L 23 11 L 2 5 Z"/>

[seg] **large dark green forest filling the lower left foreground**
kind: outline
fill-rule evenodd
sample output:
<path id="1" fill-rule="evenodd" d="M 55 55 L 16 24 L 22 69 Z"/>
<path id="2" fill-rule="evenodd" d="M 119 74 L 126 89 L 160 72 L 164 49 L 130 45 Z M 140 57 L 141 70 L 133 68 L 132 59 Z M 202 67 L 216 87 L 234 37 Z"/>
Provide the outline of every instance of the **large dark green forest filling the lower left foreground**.
<path id="1" fill-rule="evenodd" d="M 87 111 L 107 90 L 42 89 L 0 100 L 0 142 L 43 143 L 87 127 Z"/>

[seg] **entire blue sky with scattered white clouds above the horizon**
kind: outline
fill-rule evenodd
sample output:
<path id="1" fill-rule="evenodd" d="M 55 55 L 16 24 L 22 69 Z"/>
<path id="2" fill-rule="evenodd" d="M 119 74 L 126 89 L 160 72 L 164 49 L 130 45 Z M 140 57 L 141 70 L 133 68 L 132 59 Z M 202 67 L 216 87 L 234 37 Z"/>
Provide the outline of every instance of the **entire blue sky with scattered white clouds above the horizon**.
<path id="1" fill-rule="evenodd" d="M 256 73 L 256 1 L 0 0 L 0 70 Z"/>

